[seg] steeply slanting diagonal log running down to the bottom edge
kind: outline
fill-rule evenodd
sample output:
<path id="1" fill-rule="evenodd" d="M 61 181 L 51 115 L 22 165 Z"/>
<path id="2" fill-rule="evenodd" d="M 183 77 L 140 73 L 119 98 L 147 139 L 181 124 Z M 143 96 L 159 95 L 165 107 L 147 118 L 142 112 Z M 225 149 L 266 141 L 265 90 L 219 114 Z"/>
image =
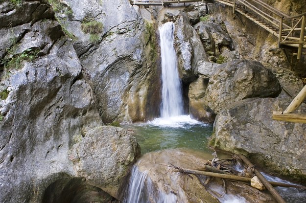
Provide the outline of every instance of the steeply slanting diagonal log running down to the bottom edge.
<path id="1" fill-rule="evenodd" d="M 241 158 L 241 160 L 243 160 L 243 162 L 245 164 L 247 164 L 250 167 L 254 168 L 254 165 L 244 156 L 239 154 L 238 155 L 239 158 Z M 254 168 L 254 173 L 255 175 L 259 178 L 259 180 L 261 181 L 261 183 L 270 191 L 271 195 L 275 198 L 275 200 L 278 203 L 286 203 L 282 197 L 280 196 L 280 194 L 274 189 L 274 187 L 268 182 L 268 180 L 266 180 L 263 175 L 259 172 L 259 170 L 257 170 L 256 168 Z"/>

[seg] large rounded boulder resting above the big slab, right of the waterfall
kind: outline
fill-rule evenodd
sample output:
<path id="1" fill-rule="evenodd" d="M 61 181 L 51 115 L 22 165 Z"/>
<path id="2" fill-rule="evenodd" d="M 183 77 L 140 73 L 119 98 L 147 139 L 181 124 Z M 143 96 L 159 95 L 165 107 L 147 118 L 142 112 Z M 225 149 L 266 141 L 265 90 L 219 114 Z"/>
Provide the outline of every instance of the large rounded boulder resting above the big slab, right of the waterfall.
<path id="1" fill-rule="evenodd" d="M 280 92 L 275 75 L 259 62 L 234 60 L 213 72 L 205 102 L 217 114 L 232 102 L 250 97 L 276 97 Z"/>

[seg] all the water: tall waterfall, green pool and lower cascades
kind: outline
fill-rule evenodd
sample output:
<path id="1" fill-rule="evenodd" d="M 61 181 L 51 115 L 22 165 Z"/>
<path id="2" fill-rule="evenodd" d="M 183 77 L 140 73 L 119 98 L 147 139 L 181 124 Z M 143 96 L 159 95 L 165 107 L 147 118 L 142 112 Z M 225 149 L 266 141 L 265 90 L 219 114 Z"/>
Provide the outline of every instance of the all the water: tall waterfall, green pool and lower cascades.
<path id="1" fill-rule="evenodd" d="M 208 138 L 212 135 L 212 126 L 190 119 L 183 114 L 183 98 L 181 80 L 177 69 L 177 57 L 173 47 L 174 23 L 165 23 L 159 28 L 162 57 L 162 104 L 161 118 L 148 123 L 125 125 L 133 128 L 134 136 L 141 146 L 141 154 L 163 149 L 185 148 L 201 153 L 212 153 L 208 146 Z M 239 169 L 237 166 L 236 170 Z M 266 175 L 267 179 L 281 181 Z M 222 194 L 222 186 L 215 186 L 214 192 Z M 306 191 L 296 188 L 277 187 L 288 203 L 304 203 Z M 154 194 L 155 193 L 155 194 Z M 157 193 L 157 194 L 156 194 Z M 245 203 L 243 197 L 222 195 L 221 203 Z M 173 193 L 165 194 L 154 188 L 147 171 L 140 171 L 133 166 L 129 186 L 124 203 L 176 203 Z"/>

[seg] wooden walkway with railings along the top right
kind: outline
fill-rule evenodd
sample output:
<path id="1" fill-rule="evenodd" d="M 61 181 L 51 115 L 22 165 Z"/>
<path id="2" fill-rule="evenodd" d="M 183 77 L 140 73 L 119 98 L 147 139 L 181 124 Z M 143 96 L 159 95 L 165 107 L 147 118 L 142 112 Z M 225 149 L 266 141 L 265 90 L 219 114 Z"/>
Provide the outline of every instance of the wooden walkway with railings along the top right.
<path id="1" fill-rule="evenodd" d="M 261 0 L 130 0 L 132 5 L 170 6 L 177 3 L 205 2 L 231 6 L 234 14 L 241 14 L 278 39 L 278 48 L 296 50 L 301 59 L 306 49 L 306 13 L 290 17 Z"/>

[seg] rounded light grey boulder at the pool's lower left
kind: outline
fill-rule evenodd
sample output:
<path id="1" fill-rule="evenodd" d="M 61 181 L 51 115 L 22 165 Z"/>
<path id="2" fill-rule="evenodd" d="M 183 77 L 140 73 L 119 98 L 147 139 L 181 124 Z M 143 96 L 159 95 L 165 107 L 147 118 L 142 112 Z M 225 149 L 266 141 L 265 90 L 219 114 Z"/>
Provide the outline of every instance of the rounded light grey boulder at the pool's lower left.
<path id="1" fill-rule="evenodd" d="M 119 199 L 120 184 L 140 155 L 140 146 L 127 130 L 100 126 L 90 130 L 69 151 L 77 177 Z"/>

